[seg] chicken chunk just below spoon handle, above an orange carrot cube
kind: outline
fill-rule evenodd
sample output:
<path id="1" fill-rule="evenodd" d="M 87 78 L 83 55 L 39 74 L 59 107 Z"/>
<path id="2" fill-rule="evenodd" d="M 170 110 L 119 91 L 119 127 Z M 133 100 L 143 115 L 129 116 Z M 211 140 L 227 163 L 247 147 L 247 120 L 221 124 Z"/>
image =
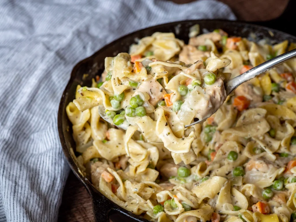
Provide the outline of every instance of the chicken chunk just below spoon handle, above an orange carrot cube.
<path id="1" fill-rule="evenodd" d="M 262 90 L 247 82 L 238 86 L 234 94 L 236 96 L 245 96 L 247 99 L 251 100 L 252 103 L 262 102 L 263 100 Z"/>

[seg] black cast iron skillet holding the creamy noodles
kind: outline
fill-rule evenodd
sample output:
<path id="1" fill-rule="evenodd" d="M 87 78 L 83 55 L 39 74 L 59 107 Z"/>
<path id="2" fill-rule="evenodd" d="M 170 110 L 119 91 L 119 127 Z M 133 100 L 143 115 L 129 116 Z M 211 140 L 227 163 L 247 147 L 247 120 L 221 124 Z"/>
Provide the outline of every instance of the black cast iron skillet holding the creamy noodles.
<path id="1" fill-rule="evenodd" d="M 245 22 L 237 22 L 237 21 L 227 21 L 227 20 L 189 20 L 189 21 L 179 21 L 179 22 L 171 22 L 167 24 L 157 25 L 149 28 L 145 28 L 142 30 L 138 30 L 136 32 L 130 33 L 126 36 L 123 36 L 112 43 L 104 46 L 102 49 L 94 53 L 92 56 L 83 59 L 79 62 L 72 70 L 71 78 L 65 88 L 65 91 L 62 95 L 59 111 L 58 111 L 58 130 L 59 137 L 62 144 L 62 149 L 65 153 L 67 161 L 75 173 L 75 175 L 79 178 L 79 180 L 84 184 L 89 194 L 91 195 L 93 202 L 93 212 L 94 218 L 96 222 L 107 222 L 109 218 L 112 219 L 113 222 L 118 221 L 147 221 L 143 219 L 141 216 L 134 215 L 133 213 L 123 209 L 122 207 L 116 205 L 103 194 L 101 194 L 96 188 L 88 181 L 85 177 L 83 177 L 77 168 L 77 165 L 74 162 L 73 157 L 70 154 L 69 149 L 73 147 L 75 151 L 75 142 L 72 137 L 72 125 L 67 118 L 67 114 L 65 112 L 65 108 L 67 104 L 75 98 L 75 90 L 78 84 L 83 86 L 91 85 L 91 78 L 94 78 L 96 75 L 101 75 L 104 70 L 104 59 L 105 57 L 114 57 L 119 52 L 128 52 L 129 46 L 134 43 L 135 38 L 143 38 L 145 36 L 150 36 L 155 32 L 173 32 L 176 35 L 176 38 L 182 39 L 185 43 L 188 43 L 188 33 L 189 28 L 192 25 L 199 24 L 200 30 L 206 28 L 210 31 L 221 28 L 230 36 L 242 36 L 248 37 L 249 34 L 255 33 L 256 40 L 260 40 L 262 38 L 269 38 L 274 40 L 275 42 L 280 42 L 284 40 L 289 40 L 289 42 L 296 42 L 295 28 L 293 28 L 289 23 L 295 21 L 295 18 L 292 17 L 294 15 L 293 9 L 296 8 L 296 1 L 290 0 L 287 6 L 287 9 L 284 11 L 283 15 L 279 18 L 268 21 L 268 22 L 253 22 L 254 24 L 249 24 Z M 268 26 L 263 27 L 261 25 Z M 178 28 L 176 28 L 178 27 Z M 278 31 L 275 29 L 283 30 Z M 179 31 L 176 32 L 176 29 Z M 270 35 L 270 31 L 274 34 Z M 83 74 L 89 74 L 86 78 L 83 78 Z"/>

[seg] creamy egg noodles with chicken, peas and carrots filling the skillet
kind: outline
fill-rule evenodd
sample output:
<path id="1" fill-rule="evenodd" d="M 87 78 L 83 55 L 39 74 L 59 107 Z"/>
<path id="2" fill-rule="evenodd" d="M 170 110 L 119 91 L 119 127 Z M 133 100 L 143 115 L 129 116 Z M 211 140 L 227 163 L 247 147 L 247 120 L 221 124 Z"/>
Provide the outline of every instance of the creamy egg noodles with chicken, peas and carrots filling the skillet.
<path id="1" fill-rule="evenodd" d="M 78 85 L 66 112 L 80 170 L 151 221 L 295 222 L 296 60 L 227 98 L 224 83 L 296 45 L 196 28 L 188 45 L 142 38 L 105 59 L 102 81 Z M 196 118 L 207 120 L 185 128 Z"/>

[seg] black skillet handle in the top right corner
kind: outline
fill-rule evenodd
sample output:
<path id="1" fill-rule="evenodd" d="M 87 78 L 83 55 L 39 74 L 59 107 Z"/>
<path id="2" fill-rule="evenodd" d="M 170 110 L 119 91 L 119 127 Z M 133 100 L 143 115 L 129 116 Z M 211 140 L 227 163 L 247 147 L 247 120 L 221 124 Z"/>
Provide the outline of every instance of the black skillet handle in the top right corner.
<path id="1" fill-rule="evenodd" d="M 288 25 L 295 20 L 296 1 L 289 0 L 284 12 L 276 19 L 269 21 L 251 22 L 252 24 L 262 25 L 269 28 L 277 29 L 293 36 L 296 36 L 296 29 Z"/>

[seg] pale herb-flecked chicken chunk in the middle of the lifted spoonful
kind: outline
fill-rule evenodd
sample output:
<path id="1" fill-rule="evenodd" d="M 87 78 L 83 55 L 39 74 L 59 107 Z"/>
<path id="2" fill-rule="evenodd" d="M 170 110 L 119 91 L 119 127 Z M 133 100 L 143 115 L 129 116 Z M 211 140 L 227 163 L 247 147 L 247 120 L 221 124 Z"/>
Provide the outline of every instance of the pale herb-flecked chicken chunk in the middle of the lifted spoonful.
<path id="1" fill-rule="evenodd" d="M 150 99 L 148 101 L 153 106 L 155 106 L 158 101 L 163 99 L 163 96 L 166 94 L 162 85 L 153 77 L 148 78 L 147 80 L 142 82 L 137 91 L 148 93 L 150 96 Z"/>

